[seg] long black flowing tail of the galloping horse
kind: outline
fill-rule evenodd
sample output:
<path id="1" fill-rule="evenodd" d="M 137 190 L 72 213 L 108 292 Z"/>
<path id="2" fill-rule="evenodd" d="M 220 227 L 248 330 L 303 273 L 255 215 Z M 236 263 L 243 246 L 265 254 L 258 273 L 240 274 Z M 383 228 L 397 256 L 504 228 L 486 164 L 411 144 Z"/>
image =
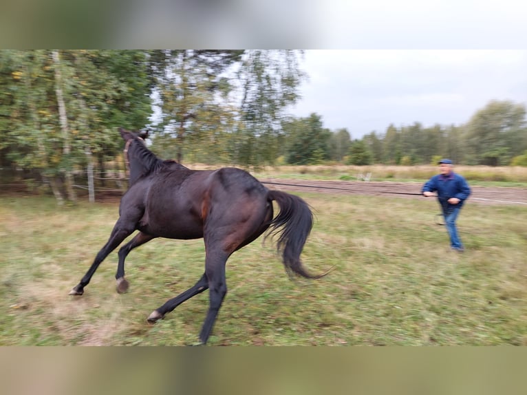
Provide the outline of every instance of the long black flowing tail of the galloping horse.
<path id="1" fill-rule="evenodd" d="M 268 196 L 280 207 L 279 214 L 270 222 L 268 235 L 279 235 L 277 249 L 282 253 L 288 275 L 297 274 L 308 279 L 327 275 L 311 275 L 300 260 L 302 248 L 313 227 L 313 213 L 309 205 L 301 197 L 281 191 L 269 191 Z"/>

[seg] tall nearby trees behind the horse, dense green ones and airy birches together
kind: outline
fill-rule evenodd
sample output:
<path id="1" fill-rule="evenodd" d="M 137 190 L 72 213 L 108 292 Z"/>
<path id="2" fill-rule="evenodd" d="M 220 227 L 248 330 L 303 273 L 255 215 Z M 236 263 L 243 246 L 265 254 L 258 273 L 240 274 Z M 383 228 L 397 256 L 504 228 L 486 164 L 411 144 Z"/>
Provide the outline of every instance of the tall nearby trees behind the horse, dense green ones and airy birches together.
<path id="1" fill-rule="evenodd" d="M 75 200 L 86 169 L 122 151 L 118 127 L 148 127 L 164 158 L 255 165 L 305 75 L 292 50 L 1 50 L 0 167 Z M 263 144 L 268 142 L 268 144 Z M 104 179 L 104 176 L 102 177 Z"/>

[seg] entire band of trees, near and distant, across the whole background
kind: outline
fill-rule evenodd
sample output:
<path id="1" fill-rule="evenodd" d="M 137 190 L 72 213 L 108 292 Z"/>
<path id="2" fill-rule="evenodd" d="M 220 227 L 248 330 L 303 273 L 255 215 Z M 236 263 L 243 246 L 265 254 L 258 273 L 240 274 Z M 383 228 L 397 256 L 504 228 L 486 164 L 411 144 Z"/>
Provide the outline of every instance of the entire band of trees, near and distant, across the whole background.
<path id="1" fill-rule="evenodd" d="M 301 51 L 1 50 L 0 167 L 75 200 L 75 179 L 105 179 L 118 127 L 151 131 L 162 158 L 264 164 L 527 165 L 524 104 L 491 101 L 465 125 L 419 122 L 352 139 L 318 114 L 288 115 L 305 81 Z M 84 173 L 83 173 L 84 174 Z M 101 181 L 104 182 L 104 181 Z"/>

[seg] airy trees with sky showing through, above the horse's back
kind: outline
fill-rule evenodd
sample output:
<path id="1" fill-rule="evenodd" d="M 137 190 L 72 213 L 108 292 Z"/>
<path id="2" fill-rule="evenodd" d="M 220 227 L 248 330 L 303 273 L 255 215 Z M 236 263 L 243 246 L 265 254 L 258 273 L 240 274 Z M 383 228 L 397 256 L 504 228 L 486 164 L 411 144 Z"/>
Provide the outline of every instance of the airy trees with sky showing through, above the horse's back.
<path id="1" fill-rule="evenodd" d="M 155 51 L 152 59 L 162 118 L 154 151 L 244 166 L 279 156 L 280 122 L 304 78 L 297 51 Z"/>

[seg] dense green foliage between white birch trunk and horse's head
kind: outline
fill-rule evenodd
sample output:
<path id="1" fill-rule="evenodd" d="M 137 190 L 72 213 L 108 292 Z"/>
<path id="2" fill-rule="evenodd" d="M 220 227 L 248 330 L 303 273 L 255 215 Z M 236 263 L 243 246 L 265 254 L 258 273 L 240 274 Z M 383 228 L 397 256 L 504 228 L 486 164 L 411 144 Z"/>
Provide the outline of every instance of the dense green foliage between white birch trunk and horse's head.
<path id="1" fill-rule="evenodd" d="M 119 153 L 118 127 L 141 129 L 151 114 L 147 53 L 144 51 L 73 51 L 65 53 L 74 67 L 70 103 L 76 130 L 84 141 L 85 160 L 93 155 L 105 178 L 105 161 Z"/>

